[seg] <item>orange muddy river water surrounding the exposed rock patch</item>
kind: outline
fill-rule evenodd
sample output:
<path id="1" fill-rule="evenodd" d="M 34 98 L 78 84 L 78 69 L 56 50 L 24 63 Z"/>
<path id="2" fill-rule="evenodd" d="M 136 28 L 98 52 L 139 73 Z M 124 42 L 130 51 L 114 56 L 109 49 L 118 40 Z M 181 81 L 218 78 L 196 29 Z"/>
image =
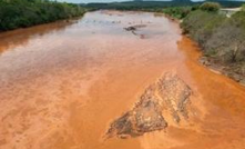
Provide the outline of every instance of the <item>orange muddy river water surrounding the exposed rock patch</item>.
<path id="1" fill-rule="evenodd" d="M 245 149 L 245 88 L 198 57 L 176 22 L 145 12 L 0 33 L 0 149 Z M 190 119 L 106 139 L 110 122 L 169 71 L 193 91 Z"/>

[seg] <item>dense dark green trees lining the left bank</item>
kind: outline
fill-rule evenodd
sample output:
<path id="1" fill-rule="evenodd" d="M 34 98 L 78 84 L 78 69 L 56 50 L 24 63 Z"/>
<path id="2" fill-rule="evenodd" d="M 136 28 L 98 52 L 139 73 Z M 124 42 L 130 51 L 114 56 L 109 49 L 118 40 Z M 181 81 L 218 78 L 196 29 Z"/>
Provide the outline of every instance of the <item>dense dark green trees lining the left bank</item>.
<path id="1" fill-rule="evenodd" d="M 0 0 L 0 31 L 82 16 L 85 9 L 48 0 Z"/>

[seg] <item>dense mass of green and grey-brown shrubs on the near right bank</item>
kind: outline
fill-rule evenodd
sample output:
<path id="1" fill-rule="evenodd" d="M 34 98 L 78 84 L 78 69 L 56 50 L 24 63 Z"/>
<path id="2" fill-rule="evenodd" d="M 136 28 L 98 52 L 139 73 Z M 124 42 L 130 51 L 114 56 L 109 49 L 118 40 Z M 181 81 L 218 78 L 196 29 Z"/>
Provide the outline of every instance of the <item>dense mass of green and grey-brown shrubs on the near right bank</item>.
<path id="1" fill-rule="evenodd" d="M 190 11 L 181 27 L 201 46 L 207 62 L 223 66 L 236 80 L 245 77 L 245 6 L 227 17 L 217 3 L 204 3 Z"/>

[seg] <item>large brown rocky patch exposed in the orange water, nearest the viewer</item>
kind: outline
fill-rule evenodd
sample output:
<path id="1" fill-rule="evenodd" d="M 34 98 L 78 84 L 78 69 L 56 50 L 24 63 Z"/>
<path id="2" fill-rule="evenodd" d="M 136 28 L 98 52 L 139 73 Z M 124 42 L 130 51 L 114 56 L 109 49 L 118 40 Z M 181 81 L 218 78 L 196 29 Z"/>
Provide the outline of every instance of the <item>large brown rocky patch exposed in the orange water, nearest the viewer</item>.
<path id="1" fill-rule="evenodd" d="M 137 137 L 145 132 L 167 127 L 164 117 L 180 122 L 187 119 L 186 110 L 191 89 L 175 73 L 165 73 L 155 83 L 145 89 L 134 108 L 114 120 L 108 130 L 108 137 Z"/>

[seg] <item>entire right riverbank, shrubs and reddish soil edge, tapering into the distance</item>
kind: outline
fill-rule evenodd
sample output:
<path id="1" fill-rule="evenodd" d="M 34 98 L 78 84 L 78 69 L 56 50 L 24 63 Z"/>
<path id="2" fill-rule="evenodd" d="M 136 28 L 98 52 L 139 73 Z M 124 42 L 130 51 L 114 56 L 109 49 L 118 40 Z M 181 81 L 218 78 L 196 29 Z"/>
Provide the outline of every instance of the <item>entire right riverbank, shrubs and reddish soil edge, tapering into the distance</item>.
<path id="1" fill-rule="evenodd" d="M 227 16 L 224 11 L 220 11 L 220 8 L 218 3 L 205 2 L 201 6 L 145 9 L 144 11 L 164 13 L 166 18 L 178 22 L 183 33 L 201 47 L 202 64 L 244 86 L 245 22 L 243 20 L 245 20 L 245 12 L 241 9 L 242 11 Z M 141 11 L 140 9 L 139 12 Z"/>

